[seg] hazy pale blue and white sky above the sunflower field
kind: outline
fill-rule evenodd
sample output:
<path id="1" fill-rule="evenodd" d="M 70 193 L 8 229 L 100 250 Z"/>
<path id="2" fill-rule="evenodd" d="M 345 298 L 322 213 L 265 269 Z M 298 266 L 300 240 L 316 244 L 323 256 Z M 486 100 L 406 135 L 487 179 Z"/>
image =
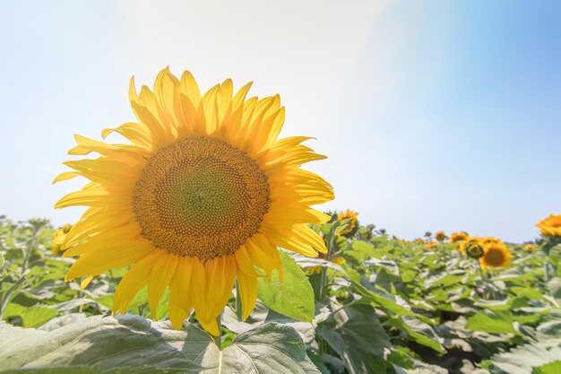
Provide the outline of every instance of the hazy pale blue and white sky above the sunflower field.
<path id="1" fill-rule="evenodd" d="M 134 120 L 128 81 L 190 70 L 280 93 L 282 135 L 358 211 L 406 239 L 522 241 L 561 213 L 557 1 L 0 1 L 0 214 L 73 222 L 51 186 L 73 134 Z M 116 138 L 114 138 L 116 139 Z"/>

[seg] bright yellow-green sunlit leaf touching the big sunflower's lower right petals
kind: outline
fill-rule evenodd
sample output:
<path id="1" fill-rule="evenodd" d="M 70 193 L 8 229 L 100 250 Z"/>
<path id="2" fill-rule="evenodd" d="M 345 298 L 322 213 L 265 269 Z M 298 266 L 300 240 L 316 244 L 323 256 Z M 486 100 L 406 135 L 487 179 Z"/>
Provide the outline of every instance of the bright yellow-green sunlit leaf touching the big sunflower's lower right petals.
<path id="1" fill-rule="evenodd" d="M 296 265 L 292 257 L 280 252 L 284 282 L 273 272 L 271 282 L 260 278 L 257 297 L 269 309 L 299 321 L 312 322 L 314 318 L 314 290 L 306 275 Z"/>

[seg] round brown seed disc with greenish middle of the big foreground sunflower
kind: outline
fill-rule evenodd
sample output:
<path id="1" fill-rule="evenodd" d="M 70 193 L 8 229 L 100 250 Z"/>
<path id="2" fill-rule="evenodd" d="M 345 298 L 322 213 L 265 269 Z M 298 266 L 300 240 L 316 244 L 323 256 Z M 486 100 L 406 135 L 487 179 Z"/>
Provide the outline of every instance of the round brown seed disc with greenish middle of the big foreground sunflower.
<path id="1" fill-rule="evenodd" d="M 259 230 L 269 203 L 269 182 L 257 163 L 204 136 L 155 152 L 133 189 L 142 236 L 202 261 L 236 252 Z"/>

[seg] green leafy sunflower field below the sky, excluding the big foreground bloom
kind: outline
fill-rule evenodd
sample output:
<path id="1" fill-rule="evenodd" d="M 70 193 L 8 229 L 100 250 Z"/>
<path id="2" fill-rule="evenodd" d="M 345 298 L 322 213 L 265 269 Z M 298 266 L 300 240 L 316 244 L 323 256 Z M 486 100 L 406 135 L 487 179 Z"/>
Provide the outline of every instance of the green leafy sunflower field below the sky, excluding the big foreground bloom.
<path id="1" fill-rule="evenodd" d="M 280 252 L 283 282 L 260 278 L 245 320 L 232 293 L 219 336 L 196 317 L 174 329 L 169 291 L 156 315 L 144 287 L 112 316 L 126 268 L 65 283 L 52 242 L 68 228 L 3 218 L 0 372 L 561 372 L 558 237 L 502 244 L 508 265 L 483 269 L 467 236 L 409 242 L 343 215 L 314 226 L 324 256 Z"/>

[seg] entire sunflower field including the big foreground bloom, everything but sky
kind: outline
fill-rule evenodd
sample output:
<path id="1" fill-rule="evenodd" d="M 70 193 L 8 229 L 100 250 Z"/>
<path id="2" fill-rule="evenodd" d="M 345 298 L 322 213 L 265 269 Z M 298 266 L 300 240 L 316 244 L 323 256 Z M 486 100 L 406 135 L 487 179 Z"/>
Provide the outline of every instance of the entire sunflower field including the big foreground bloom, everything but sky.
<path id="1" fill-rule="evenodd" d="M 250 87 L 132 79 L 125 143 L 75 135 L 54 180 L 82 217 L 0 219 L 0 374 L 561 372 L 561 215 L 514 244 L 323 213 L 325 156 Z"/>

